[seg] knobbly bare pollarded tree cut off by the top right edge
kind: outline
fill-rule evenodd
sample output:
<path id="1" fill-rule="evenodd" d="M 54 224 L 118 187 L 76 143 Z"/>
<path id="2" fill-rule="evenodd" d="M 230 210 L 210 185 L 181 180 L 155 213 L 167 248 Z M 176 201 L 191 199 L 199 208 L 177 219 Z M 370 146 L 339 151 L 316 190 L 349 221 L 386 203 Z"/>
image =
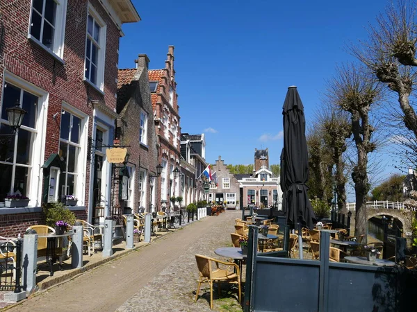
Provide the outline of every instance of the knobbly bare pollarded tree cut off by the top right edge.
<path id="1" fill-rule="evenodd" d="M 409 162 L 417 166 L 417 114 L 410 101 L 417 69 L 416 1 L 393 1 L 386 6 L 384 14 L 377 16 L 376 21 L 376 26 L 369 28 L 368 40 L 352 46 L 351 51 L 380 83 L 398 96 L 399 109 L 388 108 L 394 143 L 411 151 L 411 155 L 401 153 L 407 166 Z M 392 121 L 405 125 L 408 131 L 398 128 L 398 123 Z M 409 132 L 413 134 L 411 138 Z"/>

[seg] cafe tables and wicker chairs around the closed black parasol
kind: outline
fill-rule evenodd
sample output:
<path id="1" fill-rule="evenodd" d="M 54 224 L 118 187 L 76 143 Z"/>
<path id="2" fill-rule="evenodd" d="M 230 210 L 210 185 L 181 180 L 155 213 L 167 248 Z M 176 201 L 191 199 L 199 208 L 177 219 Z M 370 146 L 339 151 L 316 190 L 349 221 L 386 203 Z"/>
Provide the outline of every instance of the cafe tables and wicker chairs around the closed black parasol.
<path id="1" fill-rule="evenodd" d="M 268 259 L 270 261 L 275 261 L 274 259 L 289 258 L 294 259 L 297 265 L 300 265 L 300 261 L 304 261 L 303 263 L 306 263 L 306 266 L 309 266 L 308 263 L 310 261 L 315 261 L 313 266 L 317 266 L 316 263 L 345 263 L 350 266 L 349 268 L 352 268 L 352 265 L 353 268 L 356 268 L 356 266 L 359 265 L 359 268 L 364 267 L 372 269 L 398 268 L 398 266 L 400 266 L 401 270 L 411 270 L 411 272 L 417 271 L 416 257 L 404 255 L 402 261 L 398 263 L 395 257 L 384 257 L 384 243 L 375 241 L 364 244 L 363 235 L 350 236 L 349 229 L 344 227 L 334 228 L 334 225 L 331 222 L 320 222 L 315 225 L 314 229 L 302 228 L 302 245 L 299 245 L 298 231 L 290 230 L 287 225 L 282 223 L 279 224 L 276 221 L 276 218 L 256 216 L 256 214 L 246 216 L 245 218 L 236 218 L 235 225 L 231 228 L 230 245 L 218 246 L 218 248 L 214 250 L 218 257 L 210 258 L 201 254 L 196 254 L 195 258 L 200 278 L 196 285 L 195 301 L 199 300 L 199 298 L 205 294 L 204 291 L 201 291 L 200 286 L 206 281 L 210 285 L 209 290 L 206 291 L 210 291 L 209 304 L 211 309 L 213 309 L 213 285 L 216 284 L 218 284 L 217 291 L 220 297 L 223 289 L 221 284 L 228 284 L 229 288 L 226 295 L 229 295 L 229 293 L 232 292 L 236 295 L 236 300 L 238 300 L 240 304 L 243 304 L 243 306 L 249 305 L 250 301 L 254 300 L 254 294 L 248 294 L 245 290 L 252 287 L 251 283 L 254 283 L 254 279 L 261 279 L 261 277 L 256 277 L 256 273 L 251 274 L 251 272 L 247 272 L 246 268 L 248 265 L 253 268 L 253 263 L 254 261 L 257 261 L 256 259 L 258 258 Z M 250 237 L 251 231 L 253 231 L 252 233 L 256 232 L 256 235 L 252 234 L 252 237 Z M 322 242 L 323 237 L 325 237 L 324 243 Z M 254 239 L 256 239 L 256 242 L 253 241 Z M 323 246 L 327 246 L 327 252 L 323 252 L 321 248 L 322 244 Z M 252 245 L 252 248 L 256 248 L 256 252 L 255 249 L 252 249 L 252 255 L 249 256 L 248 245 Z M 299 259 L 300 252 L 303 253 L 303 260 Z M 287 262 L 285 261 L 284 263 Z M 274 266 L 268 268 L 268 274 L 270 272 L 269 270 L 272 268 L 274 268 Z M 277 268 L 277 270 L 279 269 L 278 266 L 275 266 L 275 268 Z M 260 276 L 266 276 L 265 272 Z M 279 272 L 280 275 L 285 274 L 284 271 Z M 302 272 L 302 269 L 300 272 Z M 368 275 L 366 275 L 366 277 L 369 278 Z M 288 278 L 290 277 L 285 275 L 285 280 L 288 280 Z M 302 277 L 300 278 L 302 279 Z M 297 277 L 295 277 L 295 279 L 297 279 Z M 256 279 L 256 281 L 259 280 Z M 318 279 L 316 282 L 318 282 Z M 272 281 L 270 280 L 268 283 L 264 284 L 267 288 L 269 287 L 267 285 L 270 285 Z M 325 283 L 325 281 L 323 281 L 323 283 Z M 297 287 L 291 289 L 295 291 Z M 243 294 L 241 292 L 245 293 L 244 296 L 246 301 L 243 299 Z M 293 296 L 294 294 L 291 294 L 291 297 Z M 268 296 L 265 297 L 259 295 L 259 298 L 261 298 L 259 300 L 268 300 L 267 297 Z M 271 302 L 277 302 L 276 298 L 273 296 L 269 299 Z M 291 306 L 291 304 L 288 306 Z M 261 305 L 261 307 L 264 306 Z M 263 309 L 260 308 L 260 310 Z M 265 309 L 264 311 L 275 310 Z"/>

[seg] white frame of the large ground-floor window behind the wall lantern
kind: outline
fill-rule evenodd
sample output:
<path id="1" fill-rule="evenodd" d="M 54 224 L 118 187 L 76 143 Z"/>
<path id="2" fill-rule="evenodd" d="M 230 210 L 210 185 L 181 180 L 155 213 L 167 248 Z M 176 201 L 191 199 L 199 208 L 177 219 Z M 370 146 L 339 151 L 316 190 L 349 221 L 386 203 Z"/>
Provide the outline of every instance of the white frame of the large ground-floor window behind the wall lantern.
<path id="1" fill-rule="evenodd" d="M 48 110 L 48 101 L 49 101 L 49 94 L 35 85 L 28 83 L 26 80 L 22 80 L 18 76 L 13 75 L 13 73 L 9 73 L 8 71 L 4 72 L 3 76 L 3 85 L 1 86 L 1 101 L 0 101 L 0 109 L 3 103 L 3 94 L 4 94 L 4 84 L 11 83 L 16 87 L 24 89 L 26 92 L 34 94 L 38 96 L 38 120 L 37 120 L 37 127 L 36 127 L 36 134 L 35 140 L 33 141 L 32 146 L 32 158 L 31 158 L 31 177 L 28 181 L 28 193 L 26 196 L 30 199 L 28 206 L 29 207 L 40 207 L 41 198 L 42 198 L 42 164 L 44 163 L 44 150 L 45 150 L 45 142 L 46 142 L 46 132 L 47 132 L 47 110 Z M 0 110 L 1 112 L 1 110 Z M 1 118 L 1 116 L 0 116 Z M 3 122 L 8 123 L 8 121 Z M 22 125 L 22 129 L 28 130 L 27 127 Z"/>

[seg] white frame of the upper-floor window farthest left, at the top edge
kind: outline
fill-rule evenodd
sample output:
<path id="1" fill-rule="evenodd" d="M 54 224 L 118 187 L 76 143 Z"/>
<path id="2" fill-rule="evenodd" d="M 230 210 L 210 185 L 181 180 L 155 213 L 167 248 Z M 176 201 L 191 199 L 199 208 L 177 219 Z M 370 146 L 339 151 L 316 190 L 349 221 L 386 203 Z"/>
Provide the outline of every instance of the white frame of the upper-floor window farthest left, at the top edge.
<path id="1" fill-rule="evenodd" d="M 46 0 L 43 0 L 43 6 L 42 6 L 42 10 L 44 11 L 44 3 Z M 44 12 L 40 12 L 40 14 L 42 15 L 42 24 L 40 26 L 40 39 L 38 40 L 38 38 L 34 37 L 33 35 L 31 35 L 31 26 L 32 26 L 32 18 L 33 18 L 33 10 L 35 10 L 35 8 L 33 8 L 33 1 L 31 4 L 31 18 L 29 19 L 29 26 L 28 26 L 28 39 L 32 40 L 33 42 L 35 42 L 36 44 L 38 44 L 39 46 L 41 46 L 43 49 L 45 49 L 48 53 L 51 53 L 52 56 L 54 56 L 55 58 L 57 58 L 60 62 L 64 62 L 63 61 L 63 56 L 64 56 L 64 42 L 65 42 L 65 23 L 67 20 L 67 0 L 54 0 L 56 3 L 56 12 L 55 12 L 55 25 L 54 25 L 54 44 L 53 44 L 53 48 L 50 49 L 49 47 L 45 46 L 44 44 L 42 44 L 42 35 L 43 35 L 43 26 L 44 26 L 44 22 L 47 22 L 48 24 L 49 21 L 44 21 Z M 37 13 L 35 13 L 37 14 Z"/>

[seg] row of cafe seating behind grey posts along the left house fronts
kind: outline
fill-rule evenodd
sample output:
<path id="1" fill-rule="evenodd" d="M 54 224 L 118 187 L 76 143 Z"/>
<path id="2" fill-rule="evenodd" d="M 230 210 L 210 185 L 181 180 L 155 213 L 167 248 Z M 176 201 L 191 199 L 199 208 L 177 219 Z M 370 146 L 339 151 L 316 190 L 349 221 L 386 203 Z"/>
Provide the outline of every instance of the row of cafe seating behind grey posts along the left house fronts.
<path id="1" fill-rule="evenodd" d="M 185 209 L 184 209 L 185 211 Z M 140 248 L 147 245 L 145 242 L 145 216 L 147 213 L 133 215 L 133 247 Z M 205 216 L 202 211 L 198 211 L 199 218 Z M 111 257 L 120 257 L 122 254 L 129 252 L 131 248 L 126 248 L 126 223 L 128 216 L 123 215 L 123 225 L 115 225 L 111 231 L 112 236 L 112 255 Z M 129 217 L 131 218 L 131 217 Z M 151 228 L 149 236 L 156 239 L 172 231 L 179 229 L 188 223 L 186 214 L 181 215 L 181 225 L 179 224 L 179 213 L 167 214 L 163 211 L 154 213 L 151 217 Z M 195 214 L 193 218 L 197 220 Z M 76 224 L 82 225 L 82 259 L 81 267 L 88 270 L 103 263 L 104 260 L 104 240 L 105 225 L 92 225 L 85 220 L 76 220 Z M 35 263 L 35 285 L 38 290 L 42 290 L 54 284 L 79 274 L 79 268 L 74 268 L 74 226 L 67 225 L 63 233 L 57 227 L 47 225 L 33 225 L 26 229 L 26 234 L 38 234 Z M 22 257 L 18 259 L 18 254 L 24 252 L 24 239 L 18 237 L 1 237 L 0 236 L 0 293 L 4 291 L 21 291 L 22 290 L 22 271 L 24 263 Z M 27 247 L 27 246 L 26 246 Z M 20 263 L 20 266 L 17 265 Z M 19 283 L 16 283 L 17 279 Z M 16 285 L 19 285 L 16 288 Z M 33 290 L 32 290 L 33 291 Z"/>

